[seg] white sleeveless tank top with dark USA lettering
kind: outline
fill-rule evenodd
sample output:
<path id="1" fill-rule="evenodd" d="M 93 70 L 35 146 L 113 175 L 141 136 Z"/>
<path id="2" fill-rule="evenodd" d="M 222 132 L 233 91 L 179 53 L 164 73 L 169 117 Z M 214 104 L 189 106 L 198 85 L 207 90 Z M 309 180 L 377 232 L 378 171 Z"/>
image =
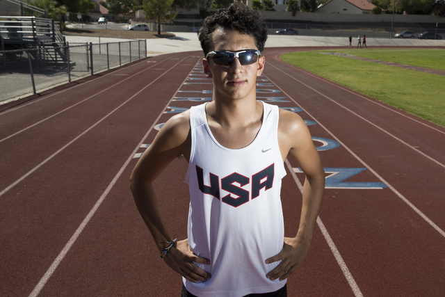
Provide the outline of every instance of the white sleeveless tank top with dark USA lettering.
<path id="1" fill-rule="evenodd" d="M 241 149 L 220 145 L 207 124 L 205 104 L 191 108 L 191 156 L 184 182 L 191 203 L 188 244 L 195 255 L 210 259 L 197 263 L 211 273 L 197 284 L 183 278 L 196 296 L 241 297 L 284 287 L 268 280 L 279 262 L 265 264 L 284 243 L 280 199 L 286 175 L 277 129 L 279 110 L 266 104 L 257 137 Z"/>

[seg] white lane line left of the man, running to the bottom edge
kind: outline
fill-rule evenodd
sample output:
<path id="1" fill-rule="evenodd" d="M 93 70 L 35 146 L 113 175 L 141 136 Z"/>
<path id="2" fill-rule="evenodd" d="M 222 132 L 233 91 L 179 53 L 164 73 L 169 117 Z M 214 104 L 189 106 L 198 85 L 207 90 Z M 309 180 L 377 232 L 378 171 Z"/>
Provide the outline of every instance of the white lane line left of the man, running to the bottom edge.
<path id="1" fill-rule="evenodd" d="M 185 58 L 183 58 L 181 61 L 179 61 L 176 65 L 178 65 L 179 63 L 181 63 L 182 61 L 184 61 Z M 175 67 L 173 66 L 173 67 Z M 166 72 L 170 71 L 172 68 L 170 68 L 169 70 L 167 70 Z M 164 74 L 166 73 L 164 72 Z M 162 77 L 164 74 L 161 74 L 160 77 Z M 188 76 L 187 76 L 188 77 Z M 159 79 L 159 77 L 158 77 Z M 184 80 L 185 81 L 185 80 Z M 154 81 L 152 81 L 152 83 L 154 83 Z M 150 84 L 152 84 L 150 83 Z M 147 85 L 149 86 L 149 85 Z M 145 88 L 147 88 L 147 86 Z M 179 86 L 179 88 L 182 87 L 182 83 Z M 145 89 L 144 88 L 144 89 Z M 178 90 L 179 90 L 178 88 Z M 143 90 L 144 90 L 143 89 Z M 142 92 L 142 90 L 140 90 L 138 93 Z M 138 93 L 136 93 L 134 96 L 138 95 Z M 168 108 L 168 106 L 171 104 L 173 98 L 177 95 L 177 91 L 175 93 L 175 95 L 173 95 L 173 97 L 170 99 L 170 101 L 167 103 L 167 105 L 165 105 L 163 111 L 165 111 L 165 109 Z M 131 98 L 130 98 L 131 99 Z M 158 115 L 158 118 L 156 118 L 156 120 L 153 122 L 152 127 L 150 127 L 147 131 L 147 133 L 143 136 L 143 138 L 141 139 L 141 141 L 139 142 L 138 145 L 136 145 L 136 148 L 133 150 L 133 152 L 130 154 L 130 156 L 128 157 L 127 161 L 125 161 L 124 165 L 122 165 L 122 167 L 120 168 L 120 170 L 118 171 L 118 173 L 115 175 L 115 177 L 113 178 L 113 180 L 111 180 L 111 183 L 108 184 L 108 186 L 106 187 L 104 193 L 102 193 L 102 195 L 100 196 L 99 200 L 97 200 L 97 202 L 95 203 L 94 207 L 92 207 L 92 209 L 90 210 L 90 212 L 88 213 L 88 215 L 83 219 L 81 225 L 79 225 L 79 227 L 77 228 L 76 232 L 74 232 L 74 234 L 72 234 L 70 240 L 67 242 L 67 244 L 65 245 L 65 247 L 63 248 L 63 250 L 60 251 L 60 253 L 58 254 L 58 256 L 56 257 L 56 259 L 54 260 L 54 262 L 51 264 L 51 266 L 49 266 L 48 270 L 46 273 L 44 273 L 42 279 L 40 279 L 40 282 L 38 282 L 38 284 L 35 286 L 35 288 L 33 289 L 33 291 L 31 292 L 31 294 L 29 294 L 29 297 L 36 297 L 38 296 L 38 294 L 40 293 L 40 291 L 43 289 L 44 285 L 47 283 L 47 281 L 49 280 L 49 278 L 51 278 L 51 275 L 54 273 L 54 271 L 56 271 L 56 268 L 58 266 L 58 264 L 60 264 L 60 262 L 62 262 L 63 258 L 65 257 L 65 255 L 67 255 L 67 252 L 70 250 L 70 248 L 73 246 L 74 242 L 76 242 L 76 240 L 79 238 L 79 235 L 82 233 L 83 229 L 85 229 L 86 225 L 90 222 L 92 216 L 94 216 L 95 212 L 97 211 L 97 209 L 99 209 L 100 204 L 102 204 L 102 202 L 104 202 L 106 196 L 108 195 L 108 193 L 110 193 L 111 188 L 113 188 L 113 186 L 115 185 L 116 182 L 118 182 L 118 179 L 120 178 L 120 176 L 122 175 L 122 172 L 124 172 L 125 168 L 127 168 L 128 164 L 130 163 L 131 160 L 133 160 L 133 156 L 134 154 L 136 154 L 136 152 L 138 152 L 138 150 L 140 149 L 140 146 L 143 145 L 143 143 L 145 142 L 145 139 L 149 136 L 150 132 L 153 130 L 154 126 L 156 125 L 157 122 L 159 122 L 159 119 L 161 118 L 161 116 L 163 115 L 163 111 Z"/>

